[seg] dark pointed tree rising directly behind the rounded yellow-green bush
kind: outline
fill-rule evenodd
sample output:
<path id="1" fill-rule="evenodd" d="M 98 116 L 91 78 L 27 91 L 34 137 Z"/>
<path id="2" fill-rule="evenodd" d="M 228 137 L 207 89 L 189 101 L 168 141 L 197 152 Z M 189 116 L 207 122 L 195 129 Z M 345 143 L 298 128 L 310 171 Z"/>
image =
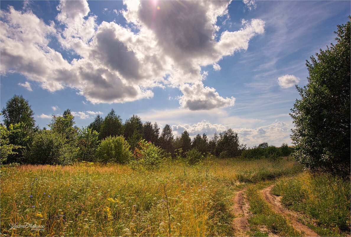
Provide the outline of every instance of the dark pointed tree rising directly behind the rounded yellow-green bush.
<path id="1" fill-rule="evenodd" d="M 101 125 L 99 139 L 102 140 L 108 136 L 119 136 L 123 134 L 122 119 L 116 115 L 115 111 L 111 109 Z"/>

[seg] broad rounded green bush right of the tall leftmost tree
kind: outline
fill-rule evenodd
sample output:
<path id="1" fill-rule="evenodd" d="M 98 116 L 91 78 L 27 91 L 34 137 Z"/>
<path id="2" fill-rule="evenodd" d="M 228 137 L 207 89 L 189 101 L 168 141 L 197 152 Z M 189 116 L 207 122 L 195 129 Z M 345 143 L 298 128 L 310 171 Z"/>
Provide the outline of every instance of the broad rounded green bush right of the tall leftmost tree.
<path id="1" fill-rule="evenodd" d="M 33 137 L 31 145 L 25 152 L 27 162 L 39 165 L 72 164 L 77 148 L 65 143 L 66 138 L 50 130 L 42 130 Z"/>

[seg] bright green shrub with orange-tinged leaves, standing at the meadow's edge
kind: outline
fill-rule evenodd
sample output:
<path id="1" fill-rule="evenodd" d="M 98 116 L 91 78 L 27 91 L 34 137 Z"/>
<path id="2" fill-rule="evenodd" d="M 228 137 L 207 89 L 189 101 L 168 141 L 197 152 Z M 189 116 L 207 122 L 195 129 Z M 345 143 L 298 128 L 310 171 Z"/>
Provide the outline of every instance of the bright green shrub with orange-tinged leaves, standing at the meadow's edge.
<path id="1" fill-rule="evenodd" d="M 134 149 L 132 168 L 159 168 L 163 160 L 162 149 L 151 142 L 141 140 Z"/>

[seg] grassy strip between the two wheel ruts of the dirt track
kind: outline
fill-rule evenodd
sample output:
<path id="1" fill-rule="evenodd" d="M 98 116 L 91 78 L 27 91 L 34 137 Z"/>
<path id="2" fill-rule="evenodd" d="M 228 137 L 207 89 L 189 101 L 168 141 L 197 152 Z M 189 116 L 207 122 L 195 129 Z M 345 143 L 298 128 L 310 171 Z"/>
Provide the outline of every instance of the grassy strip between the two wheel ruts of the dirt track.
<path id="1" fill-rule="evenodd" d="M 257 227 L 262 225 L 279 236 L 302 236 L 302 233 L 295 230 L 284 216 L 271 210 L 269 204 L 259 193 L 261 188 L 262 184 L 252 185 L 246 191 L 246 197 L 250 204 L 249 210 L 253 214 L 249 219 L 249 223 L 254 226 L 254 232 L 252 231 L 251 236 L 268 236 L 266 232 L 257 230 Z"/>

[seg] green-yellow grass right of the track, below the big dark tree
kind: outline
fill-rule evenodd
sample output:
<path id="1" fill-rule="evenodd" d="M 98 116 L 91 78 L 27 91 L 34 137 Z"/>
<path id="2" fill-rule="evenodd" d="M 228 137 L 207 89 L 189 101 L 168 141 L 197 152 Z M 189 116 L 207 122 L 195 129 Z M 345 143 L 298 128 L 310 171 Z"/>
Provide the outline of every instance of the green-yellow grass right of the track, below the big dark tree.
<path id="1" fill-rule="evenodd" d="M 350 179 L 304 172 L 279 179 L 272 192 L 282 196 L 285 207 L 306 213 L 305 221 L 315 222 L 310 227 L 320 236 L 345 236 L 350 233 L 350 186 Z"/>

